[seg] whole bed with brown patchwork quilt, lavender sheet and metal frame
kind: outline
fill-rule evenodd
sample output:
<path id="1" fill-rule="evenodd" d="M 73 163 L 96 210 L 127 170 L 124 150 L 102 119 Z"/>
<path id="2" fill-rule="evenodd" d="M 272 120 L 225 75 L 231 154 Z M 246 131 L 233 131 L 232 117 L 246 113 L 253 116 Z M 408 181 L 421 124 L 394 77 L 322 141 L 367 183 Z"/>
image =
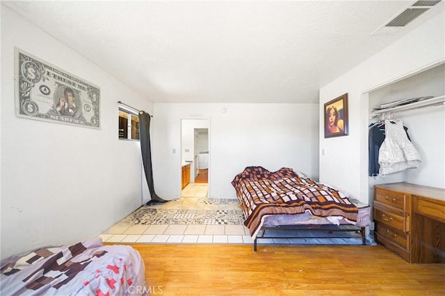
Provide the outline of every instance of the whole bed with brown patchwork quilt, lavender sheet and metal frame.
<path id="1" fill-rule="evenodd" d="M 371 223 L 369 205 L 292 168 L 271 172 L 262 166 L 248 166 L 234 177 L 232 185 L 255 251 L 258 238 L 289 238 L 266 235 L 266 231 L 275 233 L 277 229 L 287 230 L 287 234 L 290 230 L 355 233 L 366 244 L 365 227 Z"/>

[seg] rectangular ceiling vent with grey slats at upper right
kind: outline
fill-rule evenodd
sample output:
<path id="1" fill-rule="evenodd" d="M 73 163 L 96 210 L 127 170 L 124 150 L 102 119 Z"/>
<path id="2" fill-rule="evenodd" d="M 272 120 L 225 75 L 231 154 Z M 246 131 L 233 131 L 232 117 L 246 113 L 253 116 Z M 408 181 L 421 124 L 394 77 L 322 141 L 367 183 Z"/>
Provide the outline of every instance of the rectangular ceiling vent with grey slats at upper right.
<path id="1" fill-rule="evenodd" d="M 407 24 L 410 24 L 411 21 L 419 17 L 426 12 L 432 6 L 435 6 L 437 3 L 442 0 L 437 1 L 416 1 L 412 3 L 410 6 L 405 8 L 402 12 L 399 12 L 396 16 L 391 17 L 389 21 L 387 21 L 384 25 L 380 26 L 377 30 L 375 30 L 371 35 L 388 35 L 395 34 Z"/>

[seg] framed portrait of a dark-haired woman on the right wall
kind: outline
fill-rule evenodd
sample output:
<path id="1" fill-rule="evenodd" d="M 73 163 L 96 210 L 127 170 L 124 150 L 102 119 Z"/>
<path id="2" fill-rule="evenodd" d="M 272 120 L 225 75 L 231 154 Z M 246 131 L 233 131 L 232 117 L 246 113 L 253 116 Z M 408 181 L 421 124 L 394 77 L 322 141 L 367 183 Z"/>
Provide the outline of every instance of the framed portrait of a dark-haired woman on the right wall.
<path id="1" fill-rule="evenodd" d="M 348 93 L 325 103 L 325 138 L 347 136 L 348 128 Z"/>

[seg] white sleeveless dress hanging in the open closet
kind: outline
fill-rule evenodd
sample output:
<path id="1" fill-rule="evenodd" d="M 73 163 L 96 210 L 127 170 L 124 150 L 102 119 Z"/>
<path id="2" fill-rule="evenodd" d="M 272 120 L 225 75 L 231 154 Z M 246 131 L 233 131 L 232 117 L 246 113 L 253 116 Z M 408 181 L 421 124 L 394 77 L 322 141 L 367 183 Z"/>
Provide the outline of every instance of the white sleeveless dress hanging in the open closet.
<path id="1" fill-rule="evenodd" d="M 392 123 L 385 120 L 385 141 L 378 154 L 380 175 L 416 168 L 421 162 L 419 152 L 407 137 L 403 122 Z"/>

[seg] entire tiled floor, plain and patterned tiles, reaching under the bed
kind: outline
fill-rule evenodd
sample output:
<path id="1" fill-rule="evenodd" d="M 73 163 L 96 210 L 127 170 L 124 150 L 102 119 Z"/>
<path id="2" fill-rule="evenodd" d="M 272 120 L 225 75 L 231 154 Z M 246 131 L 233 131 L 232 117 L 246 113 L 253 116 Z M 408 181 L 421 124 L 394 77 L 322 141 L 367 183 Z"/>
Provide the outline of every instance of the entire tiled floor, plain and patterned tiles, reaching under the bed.
<path id="1" fill-rule="evenodd" d="M 238 200 L 208 199 L 207 184 L 202 183 L 186 186 L 181 198 L 137 209 L 99 237 L 106 243 L 253 244 L 247 227 L 243 225 L 241 205 Z M 373 235 L 367 236 L 366 241 L 367 245 L 375 245 Z M 349 243 L 359 245 L 362 241 L 359 236 L 355 241 L 351 241 L 350 238 L 323 239 L 314 236 L 297 239 L 264 238 L 258 243 L 259 245 Z"/>

